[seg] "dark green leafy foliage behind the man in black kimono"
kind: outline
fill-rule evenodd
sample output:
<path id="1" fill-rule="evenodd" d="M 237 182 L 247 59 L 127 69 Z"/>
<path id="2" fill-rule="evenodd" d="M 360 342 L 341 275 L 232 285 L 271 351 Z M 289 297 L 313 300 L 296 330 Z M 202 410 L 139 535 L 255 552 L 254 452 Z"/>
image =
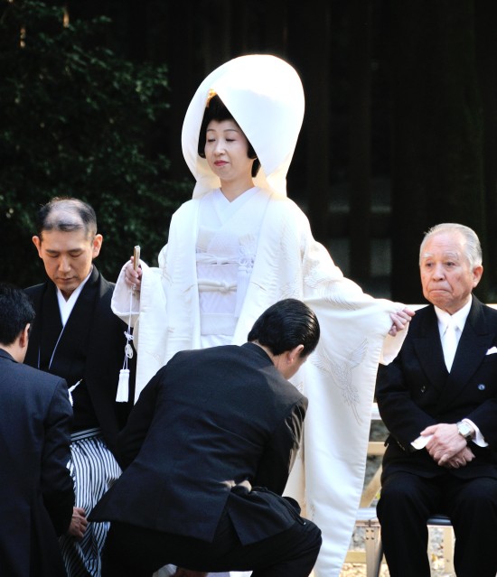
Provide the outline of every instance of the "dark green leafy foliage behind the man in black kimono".
<path id="1" fill-rule="evenodd" d="M 31 237 L 52 196 L 89 201 L 115 280 L 134 245 L 153 263 L 191 185 L 167 178 L 156 150 L 168 107 L 167 70 L 118 58 L 99 38 L 108 19 L 63 23 L 63 9 L 0 0 L 2 278 L 40 282 Z M 162 123 L 162 124 L 161 124 Z"/>

